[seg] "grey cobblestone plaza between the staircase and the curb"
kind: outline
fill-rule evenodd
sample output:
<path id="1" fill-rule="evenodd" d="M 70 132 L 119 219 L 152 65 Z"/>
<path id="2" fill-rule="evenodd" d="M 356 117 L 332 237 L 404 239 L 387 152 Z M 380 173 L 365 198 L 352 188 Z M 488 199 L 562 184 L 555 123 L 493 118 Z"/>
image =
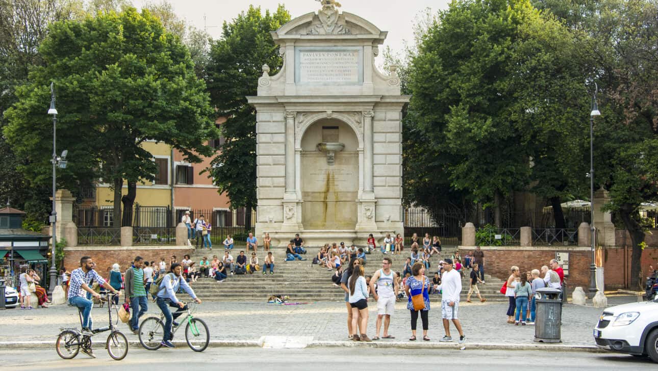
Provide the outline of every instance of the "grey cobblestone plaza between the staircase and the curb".
<path id="1" fill-rule="evenodd" d="M 611 297 L 611 305 L 629 301 L 629 297 Z M 411 335 L 409 310 L 406 303 L 397 303 L 391 321 L 390 334 L 395 341 L 407 341 Z M 368 335 L 374 336 L 376 305 L 370 303 Z M 459 316 L 470 343 L 509 343 L 531 345 L 534 342 L 533 326 L 513 326 L 505 322 L 507 305 L 462 303 Z M 107 310 L 94 308 L 95 327 L 107 326 Z M 148 314 L 159 314 L 149 303 Z M 594 345 L 592 328 L 601 309 L 565 305 L 563 307 L 563 345 Z M 318 302 L 305 305 L 274 305 L 267 303 L 204 302 L 198 309 L 199 318 L 209 324 L 211 339 L 220 341 L 256 341 L 263 335 L 311 336 L 314 341 L 347 340 L 345 304 Z M 432 303 L 429 336 L 432 343 L 443 336 L 441 309 Z M 55 341 L 60 326 L 79 326 L 78 313 L 66 305 L 48 309 L 0 311 L 0 342 L 4 341 Z M 420 328 L 420 320 L 418 321 Z M 128 326 L 118 325 L 128 333 Z M 455 337 L 457 333 L 453 334 Z M 137 339 L 127 334 L 128 339 Z"/>

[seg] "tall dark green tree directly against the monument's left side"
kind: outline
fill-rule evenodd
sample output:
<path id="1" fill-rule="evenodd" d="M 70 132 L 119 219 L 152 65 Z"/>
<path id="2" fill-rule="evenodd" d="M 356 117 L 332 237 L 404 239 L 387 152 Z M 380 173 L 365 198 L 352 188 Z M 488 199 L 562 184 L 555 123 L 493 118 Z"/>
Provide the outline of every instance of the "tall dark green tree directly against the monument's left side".
<path id="1" fill-rule="evenodd" d="M 263 64 L 270 66 L 271 74 L 280 69 L 282 59 L 270 32 L 289 20 L 283 5 L 273 14 L 250 6 L 232 22 L 224 22 L 222 37 L 211 46 L 207 84 L 216 114 L 226 122 L 221 126 L 225 141 L 210 172 L 233 208 L 251 210 L 257 205 L 256 112 L 246 97 L 257 94 Z"/>

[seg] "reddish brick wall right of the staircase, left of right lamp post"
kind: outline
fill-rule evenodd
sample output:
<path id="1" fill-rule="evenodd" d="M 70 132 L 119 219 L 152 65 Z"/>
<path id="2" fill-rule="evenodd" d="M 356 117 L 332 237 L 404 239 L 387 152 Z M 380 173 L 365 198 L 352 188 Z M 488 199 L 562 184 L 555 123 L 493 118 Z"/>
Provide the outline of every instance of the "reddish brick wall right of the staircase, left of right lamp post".
<path id="1" fill-rule="evenodd" d="M 484 273 L 490 274 L 501 280 L 507 280 L 510 274 L 510 268 L 513 265 L 519 266 L 522 272 L 533 269 L 541 269 L 542 266 L 548 265 L 551 259 L 555 259 L 555 252 L 569 252 L 569 276 L 567 287 L 573 289 L 576 286 L 582 286 L 587 289 L 590 286 L 590 262 L 592 253 L 589 247 L 519 247 L 519 246 L 501 246 L 501 247 L 481 247 L 484 251 Z M 459 247 L 459 253 L 463 257 L 468 251 L 474 251 L 474 247 Z"/>

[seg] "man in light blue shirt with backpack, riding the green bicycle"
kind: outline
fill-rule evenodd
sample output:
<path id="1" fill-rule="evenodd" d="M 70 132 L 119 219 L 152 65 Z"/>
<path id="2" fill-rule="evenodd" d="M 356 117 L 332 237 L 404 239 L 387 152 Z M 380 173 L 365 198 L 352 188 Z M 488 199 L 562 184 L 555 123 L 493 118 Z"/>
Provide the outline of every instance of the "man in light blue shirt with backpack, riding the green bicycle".
<path id="1" fill-rule="evenodd" d="M 160 310 L 162 310 L 165 318 L 164 336 L 161 344 L 168 348 L 175 347 L 171 342 L 173 337 L 172 325 L 178 326 L 178 323 L 174 322 L 174 320 L 183 314 L 185 310 L 188 310 L 188 306 L 185 305 L 182 301 L 178 301 L 178 298 L 176 298 L 176 292 L 178 292 L 178 289 L 182 287 L 186 293 L 190 294 L 190 296 L 194 299 L 194 301 L 197 302 L 197 304 L 201 304 L 201 299 L 197 298 L 194 290 L 182 278 L 182 272 L 183 267 L 180 265 L 180 263 L 176 262 L 171 264 L 170 272 L 164 276 L 157 293 L 156 303 Z M 169 307 L 174 307 L 178 310 L 176 310 L 176 312 L 174 312 L 172 315 Z"/>

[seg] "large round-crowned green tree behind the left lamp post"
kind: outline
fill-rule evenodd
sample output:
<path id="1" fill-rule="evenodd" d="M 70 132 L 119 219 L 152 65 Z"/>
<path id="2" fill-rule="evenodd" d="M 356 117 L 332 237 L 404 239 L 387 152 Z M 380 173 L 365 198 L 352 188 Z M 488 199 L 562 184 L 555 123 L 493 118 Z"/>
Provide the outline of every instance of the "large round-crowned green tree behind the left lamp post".
<path id="1" fill-rule="evenodd" d="M 5 116 L 4 134 L 32 182 L 49 178 L 52 123 L 44 114 L 49 82 L 57 87 L 58 148 L 68 149 L 62 182 L 103 180 L 114 189 L 114 226 L 122 225 L 121 189 L 128 182 L 126 209 L 140 180 L 157 171 L 141 147 L 161 141 L 187 161 L 211 155 L 216 136 L 205 84 L 197 79 L 190 53 L 148 11 L 101 12 L 82 21 L 56 22 L 39 47 L 43 66 L 17 90 L 18 102 Z M 130 225 L 130 220 L 124 224 Z"/>

